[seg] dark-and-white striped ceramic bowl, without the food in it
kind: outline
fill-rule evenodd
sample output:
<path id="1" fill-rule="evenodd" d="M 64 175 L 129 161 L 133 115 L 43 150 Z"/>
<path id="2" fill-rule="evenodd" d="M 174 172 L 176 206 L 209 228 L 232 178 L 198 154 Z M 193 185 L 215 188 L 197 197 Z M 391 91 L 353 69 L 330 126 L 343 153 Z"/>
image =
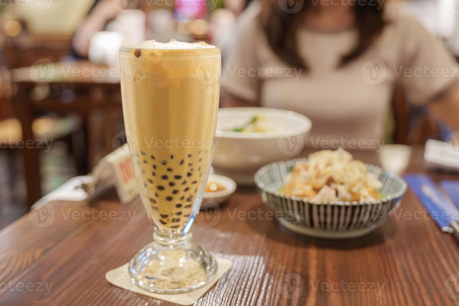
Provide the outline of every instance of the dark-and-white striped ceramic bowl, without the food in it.
<path id="1" fill-rule="evenodd" d="M 373 202 L 336 201 L 311 203 L 306 199 L 282 194 L 285 176 L 299 161 L 278 161 L 260 168 L 255 183 L 263 201 L 275 212 L 287 229 L 307 236 L 348 239 L 368 234 L 386 222 L 387 215 L 402 199 L 407 184 L 398 175 L 367 164 L 368 171 L 383 183 L 385 198 Z"/>

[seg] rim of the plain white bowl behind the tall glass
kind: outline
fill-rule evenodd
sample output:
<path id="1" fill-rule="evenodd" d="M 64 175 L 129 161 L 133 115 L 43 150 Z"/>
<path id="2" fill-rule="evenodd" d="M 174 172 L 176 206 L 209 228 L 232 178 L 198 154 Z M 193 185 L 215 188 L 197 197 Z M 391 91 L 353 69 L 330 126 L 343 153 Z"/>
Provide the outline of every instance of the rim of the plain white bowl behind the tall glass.
<path id="1" fill-rule="evenodd" d="M 305 134 L 308 131 L 311 130 L 313 123 L 311 119 L 308 117 L 304 116 L 303 114 L 300 114 L 296 111 L 289 111 L 285 110 L 282 108 L 270 108 L 270 107 L 225 107 L 225 108 L 220 108 L 218 109 L 218 117 L 220 117 L 220 114 L 223 112 L 230 112 L 230 111 L 237 111 L 237 110 L 244 110 L 244 111 L 272 111 L 272 112 L 280 112 L 282 114 L 286 115 L 291 115 L 296 117 L 298 121 L 302 122 L 301 124 L 297 125 L 295 129 L 289 129 L 289 130 L 279 130 L 279 131 L 273 131 L 273 132 L 246 132 L 246 133 L 241 133 L 241 132 L 233 132 L 233 131 L 225 131 L 222 129 L 218 129 L 218 124 L 217 124 L 217 129 L 215 132 L 215 137 L 218 139 L 277 139 L 281 135 L 291 132 L 292 134 L 298 134 L 294 133 L 294 131 L 299 132 L 300 134 Z"/>

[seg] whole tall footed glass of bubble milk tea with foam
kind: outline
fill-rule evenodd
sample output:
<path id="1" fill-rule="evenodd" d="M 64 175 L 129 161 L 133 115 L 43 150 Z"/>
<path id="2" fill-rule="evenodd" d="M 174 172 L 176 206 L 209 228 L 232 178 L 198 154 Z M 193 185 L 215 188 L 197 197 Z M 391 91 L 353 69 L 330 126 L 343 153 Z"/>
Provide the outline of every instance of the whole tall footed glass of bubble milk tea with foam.
<path id="1" fill-rule="evenodd" d="M 212 157 L 220 50 L 206 43 L 147 41 L 120 50 L 126 140 L 153 242 L 129 263 L 132 281 L 156 293 L 200 288 L 217 271 L 192 241 Z"/>

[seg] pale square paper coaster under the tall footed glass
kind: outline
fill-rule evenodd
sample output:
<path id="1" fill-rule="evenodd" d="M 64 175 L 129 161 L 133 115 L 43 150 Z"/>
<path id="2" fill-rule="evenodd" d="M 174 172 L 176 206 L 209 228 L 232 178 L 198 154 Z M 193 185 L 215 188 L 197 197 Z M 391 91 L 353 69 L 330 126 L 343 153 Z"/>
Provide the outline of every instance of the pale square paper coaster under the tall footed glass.
<path id="1" fill-rule="evenodd" d="M 207 290 L 209 290 L 213 286 L 213 284 L 215 284 L 218 281 L 218 279 L 226 271 L 228 271 L 231 265 L 233 264 L 233 261 L 224 258 L 216 257 L 215 260 L 217 261 L 218 268 L 217 273 L 215 274 L 215 278 L 213 278 L 212 282 L 202 287 L 201 289 L 197 289 L 195 291 L 187 293 L 159 294 L 137 287 L 137 285 L 132 284 L 132 281 L 129 277 L 129 262 L 121 267 L 108 271 L 105 274 L 105 279 L 112 285 L 128 290 L 125 291 L 113 288 L 113 292 L 115 293 L 115 295 L 122 299 L 130 299 L 134 297 L 136 293 L 140 293 L 142 295 L 151 296 L 155 299 L 166 300 L 168 302 L 177 303 L 180 305 L 191 305 L 194 304 L 197 300 L 199 300 L 204 294 L 206 294 Z"/>

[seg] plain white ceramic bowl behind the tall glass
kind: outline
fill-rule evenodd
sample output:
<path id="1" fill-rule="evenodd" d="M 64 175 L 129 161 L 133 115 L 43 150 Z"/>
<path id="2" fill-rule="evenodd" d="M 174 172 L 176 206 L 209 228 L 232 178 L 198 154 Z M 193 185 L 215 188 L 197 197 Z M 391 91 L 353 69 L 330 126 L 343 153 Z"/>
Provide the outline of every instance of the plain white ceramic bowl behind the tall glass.
<path id="1" fill-rule="evenodd" d="M 241 133 L 232 131 L 253 116 L 263 116 L 275 131 Z M 218 110 L 216 150 L 212 166 L 217 174 L 237 184 L 254 184 L 253 175 L 273 161 L 289 160 L 303 147 L 312 123 L 294 111 L 263 107 L 233 107 Z"/>

